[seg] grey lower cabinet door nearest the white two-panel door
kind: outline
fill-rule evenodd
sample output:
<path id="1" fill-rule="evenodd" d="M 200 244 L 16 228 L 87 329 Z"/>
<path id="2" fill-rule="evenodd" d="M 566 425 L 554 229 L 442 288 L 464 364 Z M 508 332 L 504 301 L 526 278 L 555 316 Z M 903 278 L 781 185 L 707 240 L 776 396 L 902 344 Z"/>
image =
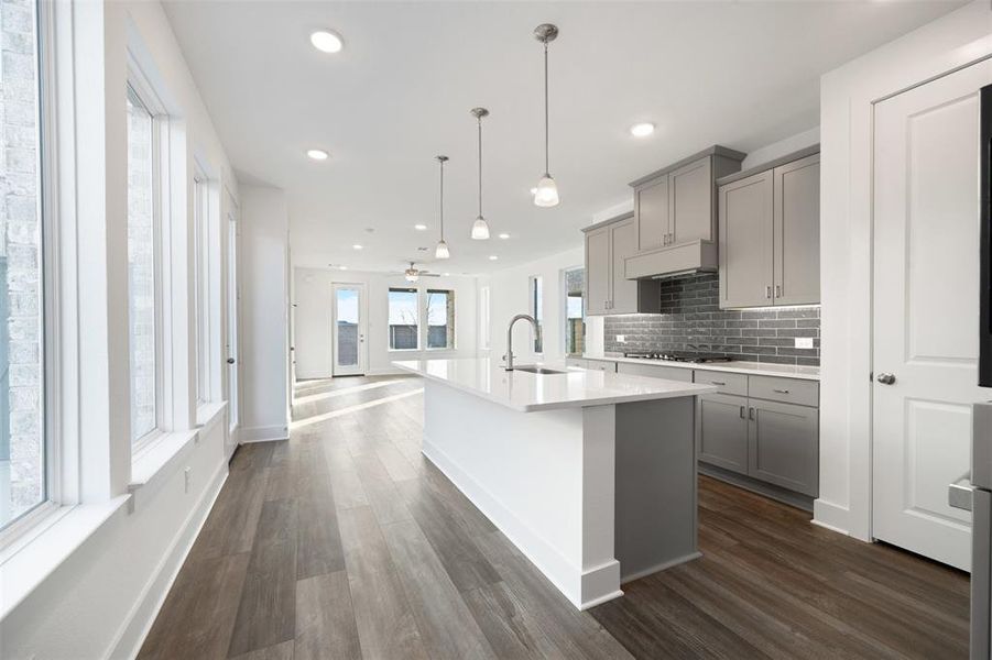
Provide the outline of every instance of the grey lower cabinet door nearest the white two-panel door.
<path id="1" fill-rule="evenodd" d="M 748 474 L 816 497 L 819 492 L 817 408 L 750 399 Z"/>

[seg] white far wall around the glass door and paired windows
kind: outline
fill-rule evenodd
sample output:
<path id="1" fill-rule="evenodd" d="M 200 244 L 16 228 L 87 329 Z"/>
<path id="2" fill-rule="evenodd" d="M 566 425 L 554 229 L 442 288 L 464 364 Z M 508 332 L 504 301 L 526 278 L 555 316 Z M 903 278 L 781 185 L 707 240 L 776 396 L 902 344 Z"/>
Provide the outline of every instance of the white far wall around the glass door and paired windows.
<path id="1" fill-rule="evenodd" d="M 473 358 L 478 315 L 476 279 L 473 277 L 424 277 L 415 286 L 421 289 L 445 288 L 455 292 L 455 350 L 390 351 L 389 304 L 391 286 L 408 287 L 402 275 L 331 271 L 327 268 L 295 268 L 294 299 L 295 349 L 297 378 L 331 376 L 331 286 L 335 283 L 364 284 L 363 312 L 368 320 L 364 351 L 367 373 L 399 373 L 393 360 L 421 358 Z"/>

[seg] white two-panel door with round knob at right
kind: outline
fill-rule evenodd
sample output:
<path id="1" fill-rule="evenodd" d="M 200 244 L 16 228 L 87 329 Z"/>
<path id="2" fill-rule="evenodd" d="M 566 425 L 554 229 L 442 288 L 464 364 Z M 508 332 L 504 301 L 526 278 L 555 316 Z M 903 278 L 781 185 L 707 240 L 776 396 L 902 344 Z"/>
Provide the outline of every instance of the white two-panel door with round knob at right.
<path id="1" fill-rule="evenodd" d="M 875 106 L 872 535 L 969 570 L 982 63 Z M 829 223 L 828 223 L 829 230 Z M 886 374 L 894 381 L 886 384 Z"/>

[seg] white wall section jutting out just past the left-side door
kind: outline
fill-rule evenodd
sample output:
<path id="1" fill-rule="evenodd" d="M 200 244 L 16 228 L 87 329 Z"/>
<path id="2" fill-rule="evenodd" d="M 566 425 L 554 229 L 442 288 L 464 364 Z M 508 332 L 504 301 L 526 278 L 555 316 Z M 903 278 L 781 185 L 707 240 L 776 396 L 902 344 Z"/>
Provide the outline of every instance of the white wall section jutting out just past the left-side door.
<path id="1" fill-rule="evenodd" d="M 282 190 L 241 187 L 242 442 L 288 437 L 288 231 Z"/>

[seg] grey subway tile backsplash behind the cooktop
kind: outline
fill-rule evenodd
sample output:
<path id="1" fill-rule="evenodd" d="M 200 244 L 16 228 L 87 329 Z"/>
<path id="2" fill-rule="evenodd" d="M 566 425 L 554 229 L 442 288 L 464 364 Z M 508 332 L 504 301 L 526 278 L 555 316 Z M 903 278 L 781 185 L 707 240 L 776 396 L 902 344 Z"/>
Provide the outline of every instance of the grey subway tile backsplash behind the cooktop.
<path id="1" fill-rule="evenodd" d="M 820 308 L 721 310 L 720 278 L 701 273 L 662 282 L 662 314 L 608 316 L 608 352 L 704 351 L 734 360 L 819 366 Z M 620 343 L 617 336 L 623 334 Z M 813 338 L 797 349 L 796 338 Z"/>

